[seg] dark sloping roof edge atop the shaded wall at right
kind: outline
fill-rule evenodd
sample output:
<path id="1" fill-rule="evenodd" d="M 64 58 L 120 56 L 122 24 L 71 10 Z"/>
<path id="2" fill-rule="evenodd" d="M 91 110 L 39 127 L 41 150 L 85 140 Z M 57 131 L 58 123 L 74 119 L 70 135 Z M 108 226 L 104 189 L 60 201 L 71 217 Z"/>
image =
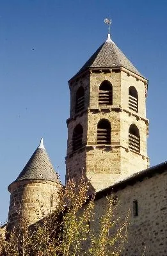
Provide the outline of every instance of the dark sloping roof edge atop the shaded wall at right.
<path id="1" fill-rule="evenodd" d="M 118 190 L 124 189 L 127 186 L 133 186 L 138 181 L 143 181 L 145 177 L 151 178 L 155 176 L 157 173 L 161 174 L 167 171 L 167 162 L 163 162 L 161 164 L 157 164 L 152 166 L 146 170 L 142 170 L 141 172 L 134 173 L 127 179 L 121 180 L 110 186 L 109 188 L 103 189 L 96 193 L 95 200 L 99 200 L 100 198 L 111 195 L 113 192 L 115 193 Z"/>

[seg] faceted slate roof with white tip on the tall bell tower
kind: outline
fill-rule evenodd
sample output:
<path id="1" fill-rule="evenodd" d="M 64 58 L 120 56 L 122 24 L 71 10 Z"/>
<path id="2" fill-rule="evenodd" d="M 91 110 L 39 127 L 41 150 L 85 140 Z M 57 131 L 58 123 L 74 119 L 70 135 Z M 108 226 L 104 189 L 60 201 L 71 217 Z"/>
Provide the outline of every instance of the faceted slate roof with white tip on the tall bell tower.
<path id="1" fill-rule="evenodd" d="M 76 76 L 84 72 L 88 68 L 113 68 L 113 67 L 124 67 L 142 76 L 138 70 L 132 65 L 131 61 L 123 54 L 122 51 L 116 46 L 111 40 L 110 34 L 106 42 L 104 42 L 99 49 L 90 57 L 83 67 L 77 72 Z M 75 76 L 75 77 L 76 77 Z M 143 77 L 143 76 L 142 76 Z"/>

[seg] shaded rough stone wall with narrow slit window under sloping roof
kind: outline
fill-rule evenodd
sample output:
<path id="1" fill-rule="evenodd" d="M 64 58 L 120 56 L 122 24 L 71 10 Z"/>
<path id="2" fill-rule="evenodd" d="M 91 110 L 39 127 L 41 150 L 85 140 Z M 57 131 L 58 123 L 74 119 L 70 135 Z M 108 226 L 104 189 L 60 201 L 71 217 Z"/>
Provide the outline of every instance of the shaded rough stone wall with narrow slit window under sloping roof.
<path id="1" fill-rule="evenodd" d="M 167 172 L 145 178 L 126 188 L 115 191 L 118 206 L 115 220 L 122 221 L 130 210 L 127 227 L 128 243 L 122 256 L 139 256 L 145 251 L 147 256 L 167 255 Z M 133 202 L 138 200 L 138 216 L 134 216 Z M 95 227 L 98 217 L 106 208 L 106 197 L 95 201 Z M 90 225 L 93 225 L 90 223 Z"/>

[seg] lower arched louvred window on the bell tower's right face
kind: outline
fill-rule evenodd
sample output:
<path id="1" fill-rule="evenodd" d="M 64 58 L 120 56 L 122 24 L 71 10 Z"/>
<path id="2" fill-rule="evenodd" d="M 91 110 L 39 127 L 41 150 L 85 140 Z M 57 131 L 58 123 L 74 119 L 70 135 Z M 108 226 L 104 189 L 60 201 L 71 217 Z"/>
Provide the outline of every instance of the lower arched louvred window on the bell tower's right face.
<path id="1" fill-rule="evenodd" d="M 139 129 L 135 124 L 131 124 L 131 126 L 129 127 L 129 148 L 139 153 Z"/>

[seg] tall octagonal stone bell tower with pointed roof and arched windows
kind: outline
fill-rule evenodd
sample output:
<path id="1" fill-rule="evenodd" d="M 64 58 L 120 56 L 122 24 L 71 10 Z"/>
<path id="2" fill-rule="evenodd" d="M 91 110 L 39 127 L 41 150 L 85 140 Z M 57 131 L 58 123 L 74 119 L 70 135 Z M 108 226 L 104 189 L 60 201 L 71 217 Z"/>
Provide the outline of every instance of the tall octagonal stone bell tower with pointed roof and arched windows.
<path id="1" fill-rule="evenodd" d="M 99 191 L 148 168 L 148 80 L 110 34 L 68 83 L 66 179 L 83 174 Z"/>

